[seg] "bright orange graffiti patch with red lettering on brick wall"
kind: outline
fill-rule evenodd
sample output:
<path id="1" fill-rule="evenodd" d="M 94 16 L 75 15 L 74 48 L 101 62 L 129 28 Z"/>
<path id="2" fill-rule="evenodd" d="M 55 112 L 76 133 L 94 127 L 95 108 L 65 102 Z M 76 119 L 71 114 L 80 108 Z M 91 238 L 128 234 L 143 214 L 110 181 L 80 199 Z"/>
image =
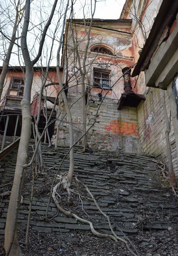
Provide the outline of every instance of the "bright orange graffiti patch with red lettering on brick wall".
<path id="1" fill-rule="evenodd" d="M 108 132 L 112 131 L 115 134 L 138 136 L 137 124 L 135 123 L 112 120 L 104 129 Z"/>

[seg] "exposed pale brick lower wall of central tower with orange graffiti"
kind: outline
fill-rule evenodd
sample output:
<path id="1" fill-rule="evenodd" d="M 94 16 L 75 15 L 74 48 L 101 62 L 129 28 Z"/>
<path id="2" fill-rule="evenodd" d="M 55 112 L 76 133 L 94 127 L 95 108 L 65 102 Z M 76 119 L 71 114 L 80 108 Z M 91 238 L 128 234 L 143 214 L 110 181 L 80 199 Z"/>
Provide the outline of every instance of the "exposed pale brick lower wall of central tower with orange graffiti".
<path id="1" fill-rule="evenodd" d="M 72 98 L 71 98 L 72 100 Z M 74 141 L 81 137 L 82 113 L 79 102 L 71 108 Z M 94 122 L 100 102 L 89 103 L 87 108 L 87 129 Z M 62 113 L 63 122 L 60 123 L 58 134 L 59 145 L 69 145 L 68 120 L 65 111 Z M 55 129 L 56 134 L 56 129 Z M 55 142 L 55 135 L 52 138 Z M 96 123 L 87 134 L 87 141 L 91 148 L 103 150 L 119 150 L 129 153 L 141 153 L 136 108 L 117 110 L 117 101 L 105 100 L 99 108 Z M 80 145 L 82 142 L 80 141 Z"/>

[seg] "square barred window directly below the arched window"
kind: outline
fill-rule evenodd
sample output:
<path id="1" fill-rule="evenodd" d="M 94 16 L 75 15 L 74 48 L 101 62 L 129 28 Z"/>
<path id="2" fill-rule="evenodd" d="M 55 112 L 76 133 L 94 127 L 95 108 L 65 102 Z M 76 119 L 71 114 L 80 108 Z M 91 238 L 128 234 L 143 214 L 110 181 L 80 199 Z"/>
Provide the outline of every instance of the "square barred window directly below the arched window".
<path id="1" fill-rule="evenodd" d="M 94 87 L 110 89 L 110 73 L 94 69 Z"/>

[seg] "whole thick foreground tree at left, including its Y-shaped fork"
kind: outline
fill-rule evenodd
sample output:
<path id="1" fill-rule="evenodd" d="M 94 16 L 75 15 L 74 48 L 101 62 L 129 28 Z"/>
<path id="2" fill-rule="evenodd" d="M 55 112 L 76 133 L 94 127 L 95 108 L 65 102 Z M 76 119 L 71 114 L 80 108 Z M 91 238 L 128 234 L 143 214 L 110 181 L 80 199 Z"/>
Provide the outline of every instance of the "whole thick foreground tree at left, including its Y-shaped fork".
<path id="1" fill-rule="evenodd" d="M 24 181 L 24 166 L 27 162 L 29 141 L 31 136 L 30 101 L 31 101 L 32 81 L 33 81 L 33 65 L 39 60 L 41 56 L 46 32 L 51 23 L 51 20 L 56 8 L 56 4 L 57 4 L 57 0 L 54 1 L 54 5 L 52 7 L 50 17 L 47 21 L 46 26 L 44 27 L 37 57 L 33 61 L 31 61 L 29 50 L 27 47 L 27 31 L 28 31 L 29 20 L 30 20 L 30 1 L 26 0 L 26 3 L 25 3 L 25 17 L 24 17 L 24 24 L 23 24 L 22 35 L 21 35 L 21 47 L 22 47 L 22 54 L 23 54 L 23 58 L 25 62 L 25 70 L 26 70 L 24 96 L 21 101 L 22 130 L 21 130 L 21 139 L 18 147 L 14 182 L 11 190 L 11 196 L 10 196 L 9 207 L 7 212 L 7 221 L 6 221 L 6 228 L 5 228 L 6 256 L 22 255 L 21 248 L 18 244 L 16 229 L 17 229 L 19 202 L 21 198 L 21 192 L 22 192 L 23 181 Z"/>

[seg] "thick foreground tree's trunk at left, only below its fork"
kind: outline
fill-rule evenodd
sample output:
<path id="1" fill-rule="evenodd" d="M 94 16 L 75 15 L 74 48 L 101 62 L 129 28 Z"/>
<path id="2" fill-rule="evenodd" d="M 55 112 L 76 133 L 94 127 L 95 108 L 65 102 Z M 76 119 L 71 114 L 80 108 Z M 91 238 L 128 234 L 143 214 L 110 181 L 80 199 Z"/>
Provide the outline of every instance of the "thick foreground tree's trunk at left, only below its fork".
<path id="1" fill-rule="evenodd" d="M 21 191 L 23 187 L 23 176 L 24 176 L 23 165 L 26 164 L 27 162 L 29 141 L 31 136 L 30 97 L 31 97 L 32 80 L 33 80 L 33 67 L 29 63 L 29 66 L 26 68 L 24 97 L 21 101 L 21 108 L 22 108 L 21 139 L 19 142 L 16 169 L 14 174 L 14 182 L 11 190 L 11 196 L 10 196 L 8 213 L 7 213 L 6 228 L 5 228 L 5 250 L 8 251 L 9 247 L 11 246 L 11 250 L 9 254 L 10 256 L 21 255 L 21 249 L 18 246 L 17 232 L 15 232 L 14 237 L 13 237 L 14 235 L 13 232 L 14 230 L 16 230 L 16 226 L 17 226 L 19 202 L 20 202 Z M 19 190 L 19 188 L 21 189 Z M 13 244 L 11 245 L 11 243 Z"/>

